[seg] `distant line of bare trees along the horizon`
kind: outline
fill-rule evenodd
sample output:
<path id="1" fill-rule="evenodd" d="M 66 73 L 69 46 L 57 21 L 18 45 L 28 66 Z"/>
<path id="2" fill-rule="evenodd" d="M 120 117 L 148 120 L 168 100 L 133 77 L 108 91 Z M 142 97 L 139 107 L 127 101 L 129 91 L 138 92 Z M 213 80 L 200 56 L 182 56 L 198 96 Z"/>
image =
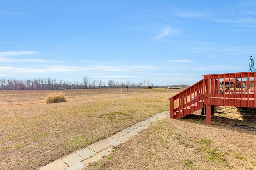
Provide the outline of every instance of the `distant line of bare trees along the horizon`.
<path id="1" fill-rule="evenodd" d="M 82 82 L 63 81 L 52 78 L 30 78 L 26 80 L 0 78 L 0 90 L 60 90 L 60 89 L 96 89 L 96 88 L 152 88 L 149 80 L 136 83 L 117 82 L 108 80 L 92 80 L 84 77 Z"/>

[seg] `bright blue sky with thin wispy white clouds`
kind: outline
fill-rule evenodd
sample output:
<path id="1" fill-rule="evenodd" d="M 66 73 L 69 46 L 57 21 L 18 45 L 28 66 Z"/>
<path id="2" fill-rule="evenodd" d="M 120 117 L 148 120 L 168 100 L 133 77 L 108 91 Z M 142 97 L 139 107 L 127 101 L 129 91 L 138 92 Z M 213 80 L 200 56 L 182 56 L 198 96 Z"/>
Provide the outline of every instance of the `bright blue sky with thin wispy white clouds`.
<path id="1" fill-rule="evenodd" d="M 247 72 L 254 0 L 1 0 L 0 78 L 189 84 Z"/>

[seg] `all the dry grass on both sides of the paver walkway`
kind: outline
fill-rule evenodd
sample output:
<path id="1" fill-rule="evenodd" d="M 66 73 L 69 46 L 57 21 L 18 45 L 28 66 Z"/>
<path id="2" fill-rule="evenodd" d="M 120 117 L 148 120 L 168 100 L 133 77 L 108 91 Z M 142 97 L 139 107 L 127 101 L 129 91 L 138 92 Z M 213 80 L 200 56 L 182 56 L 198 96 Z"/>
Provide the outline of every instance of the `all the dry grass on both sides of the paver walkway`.
<path id="1" fill-rule="evenodd" d="M 38 169 L 156 113 L 180 90 L 61 90 L 67 102 L 46 104 L 49 91 L 0 91 L 0 169 Z M 200 111 L 154 123 L 90 170 L 256 169 L 255 109 L 218 107 L 212 126 Z"/>

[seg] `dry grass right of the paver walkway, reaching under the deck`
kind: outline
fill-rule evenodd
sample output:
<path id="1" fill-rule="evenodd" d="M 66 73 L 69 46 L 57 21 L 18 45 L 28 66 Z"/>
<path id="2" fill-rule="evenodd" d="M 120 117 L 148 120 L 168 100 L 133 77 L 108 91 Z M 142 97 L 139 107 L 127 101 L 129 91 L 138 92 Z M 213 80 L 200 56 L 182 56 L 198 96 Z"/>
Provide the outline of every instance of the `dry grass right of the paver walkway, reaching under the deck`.
<path id="1" fill-rule="evenodd" d="M 84 170 L 255 170 L 255 130 L 256 109 L 220 106 L 211 126 L 197 111 L 154 123 Z"/>

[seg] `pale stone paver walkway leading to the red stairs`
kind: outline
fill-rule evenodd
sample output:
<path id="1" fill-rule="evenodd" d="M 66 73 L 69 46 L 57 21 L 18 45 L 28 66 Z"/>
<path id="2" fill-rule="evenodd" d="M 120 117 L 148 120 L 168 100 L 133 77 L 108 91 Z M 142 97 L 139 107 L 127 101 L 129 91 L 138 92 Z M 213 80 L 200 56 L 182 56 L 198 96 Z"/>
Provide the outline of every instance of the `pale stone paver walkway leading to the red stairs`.
<path id="1" fill-rule="evenodd" d="M 140 123 L 132 125 L 122 131 L 88 147 L 78 150 L 68 156 L 41 167 L 39 170 L 81 170 L 84 166 L 96 162 L 102 158 L 103 155 L 108 155 L 113 150 L 113 147 L 120 145 L 120 143 L 128 140 L 130 137 L 136 135 L 143 129 L 148 128 L 155 121 L 166 119 L 170 117 L 169 111 L 158 113 Z"/>

